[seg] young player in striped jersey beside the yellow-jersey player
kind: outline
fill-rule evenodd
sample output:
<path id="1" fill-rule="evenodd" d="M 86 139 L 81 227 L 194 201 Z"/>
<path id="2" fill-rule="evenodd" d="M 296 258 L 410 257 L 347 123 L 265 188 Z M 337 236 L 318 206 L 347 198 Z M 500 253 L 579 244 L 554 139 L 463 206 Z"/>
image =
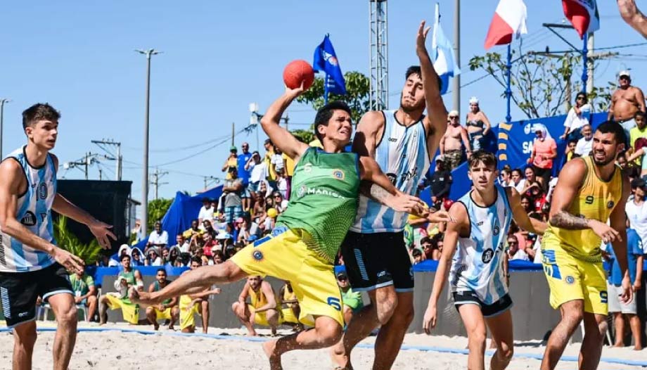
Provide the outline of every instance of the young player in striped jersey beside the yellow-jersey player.
<path id="1" fill-rule="evenodd" d="M 468 335 L 468 369 L 485 369 L 487 326 L 497 345 L 490 369 L 501 370 L 513 355 L 512 300 L 504 272 L 510 222 L 514 219 L 535 234 L 543 234 L 546 224 L 528 217 L 514 188 L 496 184 L 499 171 L 494 154 L 475 151 L 468 165 L 473 190 L 449 208 L 455 222 L 447 224 L 423 328 L 429 334 L 436 326 L 437 302 L 449 269 L 454 305 Z"/>

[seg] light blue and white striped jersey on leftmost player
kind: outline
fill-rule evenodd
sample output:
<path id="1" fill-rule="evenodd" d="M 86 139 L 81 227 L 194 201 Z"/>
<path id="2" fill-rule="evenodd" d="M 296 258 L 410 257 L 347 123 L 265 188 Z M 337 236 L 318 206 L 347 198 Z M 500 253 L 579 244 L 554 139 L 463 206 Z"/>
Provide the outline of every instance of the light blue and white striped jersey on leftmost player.
<path id="1" fill-rule="evenodd" d="M 50 154 L 41 167 L 32 167 L 19 148 L 5 160 L 16 160 L 23 167 L 27 190 L 18 198 L 15 219 L 37 236 L 54 241 L 51 206 L 56 196 L 56 168 Z M 30 272 L 44 269 L 54 263 L 47 253 L 24 245 L 0 230 L 0 272 Z"/>

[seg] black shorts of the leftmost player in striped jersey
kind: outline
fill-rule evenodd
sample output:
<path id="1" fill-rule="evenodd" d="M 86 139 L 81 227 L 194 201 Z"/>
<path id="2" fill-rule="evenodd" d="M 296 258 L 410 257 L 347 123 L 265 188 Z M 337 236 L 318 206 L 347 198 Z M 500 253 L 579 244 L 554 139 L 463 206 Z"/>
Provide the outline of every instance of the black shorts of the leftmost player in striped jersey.
<path id="1" fill-rule="evenodd" d="M 36 300 L 51 295 L 72 293 L 70 276 L 65 267 L 54 263 L 32 272 L 0 272 L 0 297 L 7 326 L 36 319 Z"/>

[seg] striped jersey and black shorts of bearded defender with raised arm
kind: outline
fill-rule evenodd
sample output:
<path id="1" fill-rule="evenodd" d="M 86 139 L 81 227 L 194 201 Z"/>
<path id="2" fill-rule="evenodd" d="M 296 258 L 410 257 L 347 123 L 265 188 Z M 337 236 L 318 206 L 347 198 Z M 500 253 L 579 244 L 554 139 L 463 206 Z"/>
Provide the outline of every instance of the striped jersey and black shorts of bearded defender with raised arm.
<path id="1" fill-rule="evenodd" d="M 385 110 L 384 132 L 378 138 L 375 160 L 392 183 L 413 195 L 429 170 L 424 115 L 409 127 L 397 122 L 396 110 Z M 353 291 L 393 285 L 399 293 L 414 290 L 411 260 L 404 245 L 407 214 L 359 196 L 357 217 L 341 251 Z"/>

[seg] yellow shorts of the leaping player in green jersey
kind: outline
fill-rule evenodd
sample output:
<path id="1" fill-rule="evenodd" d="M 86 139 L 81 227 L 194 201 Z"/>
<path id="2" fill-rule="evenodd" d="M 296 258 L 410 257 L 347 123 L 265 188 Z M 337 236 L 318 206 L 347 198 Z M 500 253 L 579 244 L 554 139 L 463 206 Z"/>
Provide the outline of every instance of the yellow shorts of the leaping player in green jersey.
<path id="1" fill-rule="evenodd" d="M 273 236 L 246 246 L 231 261 L 247 274 L 290 281 L 303 324 L 314 326 L 314 317 L 327 316 L 343 326 L 342 297 L 333 264 L 307 247 L 302 232 L 278 227 Z"/>

